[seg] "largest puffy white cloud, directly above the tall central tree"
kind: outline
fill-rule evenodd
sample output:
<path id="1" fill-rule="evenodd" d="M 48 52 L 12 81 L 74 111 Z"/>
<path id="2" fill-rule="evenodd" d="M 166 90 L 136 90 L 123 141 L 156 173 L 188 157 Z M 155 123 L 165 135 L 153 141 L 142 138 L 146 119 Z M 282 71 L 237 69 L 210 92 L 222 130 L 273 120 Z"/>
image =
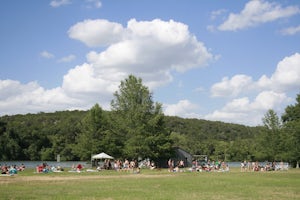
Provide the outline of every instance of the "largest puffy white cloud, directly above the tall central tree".
<path id="1" fill-rule="evenodd" d="M 172 71 L 203 67 L 213 59 L 187 25 L 173 20 L 131 19 L 127 27 L 102 19 L 85 20 L 72 26 L 68 33 L 87 46 L 107 45 L 105 51 L 87 54 L 93 77 L 104 82 L 115 83 L 131 73 L 153 89 L 169 83 Z"/>

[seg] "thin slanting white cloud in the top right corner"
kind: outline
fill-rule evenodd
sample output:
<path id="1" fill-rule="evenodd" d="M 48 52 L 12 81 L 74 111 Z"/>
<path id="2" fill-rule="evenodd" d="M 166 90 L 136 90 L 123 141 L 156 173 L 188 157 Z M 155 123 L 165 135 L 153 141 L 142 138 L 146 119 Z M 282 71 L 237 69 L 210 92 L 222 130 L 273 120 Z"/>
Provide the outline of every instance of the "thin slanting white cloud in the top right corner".
<path id="1" fill-rule="evenodd" d="M 218 29 L 221 31 L 237 31 L 259 24 L 272 22 L 300 13 L 298 6 L 281 7 L 278 3 L 264 0 L 249 1 L 238 13 L 230 13 L 227 20 Z"/>

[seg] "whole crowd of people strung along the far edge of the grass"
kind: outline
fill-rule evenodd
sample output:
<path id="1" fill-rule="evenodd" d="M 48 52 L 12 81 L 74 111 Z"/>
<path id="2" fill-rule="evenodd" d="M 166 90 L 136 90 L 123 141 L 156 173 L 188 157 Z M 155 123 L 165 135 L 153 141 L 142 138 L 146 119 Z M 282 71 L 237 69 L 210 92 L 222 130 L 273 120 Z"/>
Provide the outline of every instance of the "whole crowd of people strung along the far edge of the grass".
<path id="1" fill-rule="evenodd" d="M 169 159 L 167 161 L 168 171 L 169 172 L 229 172 L 229 165 L 221 160 L 216 161 L 206 161 L 206 162 L 199 162 L 197 160 L 192 161 L 192 166 L 186 166 L 186 163 L 183 160 L 174 161 Z M 140 173 L 142 168 L 148 169 L 156 169 L 156 165 L 153 161 L 149 159 L 138 162 L 137 160 L 110 160 L 106 159 L 104 162 L 101 162 L 96 166 L 96 170 L 94 169 L 87 169 L 87 172 L 90 171 L 101 171 L 101 170 L 115 170 L 115 171 L 124 171 L 124 172 L 132 172 L 132 173 Z M 257 171 L 277 171 L 277 170 L 287 170 L 289 168 L 287 163 L 276 163 L 276 162 L 251 162 L 251 161 L 242 161 L 240 163 L 240 170 L 241 172 L 257 172 Z M 21 164 L 20 166 L 17 165 L 1 165 L 1 174 L 3 175 L 14 175 L 17 174 L 19 171 L 25 170 L 25 165 Z M 82 172 L 84 166 L 82 164 L 73 164 L 71 170 L 69 172 Z M 48 173 L 48 172 L 63 172 L 64 169 L 60 166 L 49 166 L 47 163 L 42 163 L 41 165 L 36 166 L 36 173 Z"/>

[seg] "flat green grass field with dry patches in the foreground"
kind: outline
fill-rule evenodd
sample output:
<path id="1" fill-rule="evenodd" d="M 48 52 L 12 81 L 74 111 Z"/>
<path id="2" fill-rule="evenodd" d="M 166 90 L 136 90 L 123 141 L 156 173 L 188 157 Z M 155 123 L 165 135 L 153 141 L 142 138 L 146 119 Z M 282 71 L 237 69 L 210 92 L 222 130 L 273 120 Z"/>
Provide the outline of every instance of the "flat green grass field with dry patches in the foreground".
<path id="1" fill-rule="evenodd" d="M 35 174 L 26 169 L 0 177 L 0 199 L 300 199 L 300 170 Z"/>

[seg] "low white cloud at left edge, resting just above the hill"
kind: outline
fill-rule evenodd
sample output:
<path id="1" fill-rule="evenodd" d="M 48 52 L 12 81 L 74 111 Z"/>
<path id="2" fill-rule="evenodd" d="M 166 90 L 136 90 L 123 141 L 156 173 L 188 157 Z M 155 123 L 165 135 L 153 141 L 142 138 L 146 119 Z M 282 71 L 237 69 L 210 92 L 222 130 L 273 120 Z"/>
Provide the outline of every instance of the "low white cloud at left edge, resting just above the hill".
<path id="1" fill-rule="evenodd" d="M 71 109 L 84 103 L 68 97 L 61 88 L 45 90 L 36 82 L 0 80 L 0 94 L 2 115 Z"/>

